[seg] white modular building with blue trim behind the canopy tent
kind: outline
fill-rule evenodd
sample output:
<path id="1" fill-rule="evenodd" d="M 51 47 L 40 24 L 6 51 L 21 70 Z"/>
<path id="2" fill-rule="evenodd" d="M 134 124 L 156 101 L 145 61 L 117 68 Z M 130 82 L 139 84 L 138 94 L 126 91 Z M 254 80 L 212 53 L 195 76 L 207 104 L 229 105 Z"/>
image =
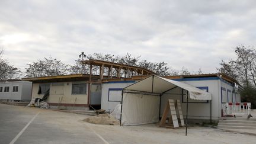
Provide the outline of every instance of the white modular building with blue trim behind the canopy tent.
<path id="1" fill-rule="evenodd" d="M 146 76 L 144 76 L 145 78 Z M 230 76 L 224 74 L 203 74 L 203 75 L 183 75 L 183 76 L 164 76 L 164 78 L 184 82 L 203 91 L 212 94 L 212 100 L 193 100 L 188 98 L 188 119 L 198 120 L 219 120 L 226 114 L 227 103 L 241 103 L 241 95 L 238 82 Z M 142 76 L 133 77 L 134 81 L 113 81 L 103 82 L 101 105 L 108 111 L 113 111 L 117 104 L 121 103 L 121 91 L 127 85 L 143 79 Z M 143 85 L 141 86 L 143 87 Z M 146 87 L 146 85 L 145 85 Z M 161 95 L 160 114 L 164 111 L 164 107 L 168 99 L 180 100 L 183 114 L 186 113 L 185 108 L 187 99 L 185 94 L 181 95 L 180 88 L 174 88 L 171 92 Z"/>

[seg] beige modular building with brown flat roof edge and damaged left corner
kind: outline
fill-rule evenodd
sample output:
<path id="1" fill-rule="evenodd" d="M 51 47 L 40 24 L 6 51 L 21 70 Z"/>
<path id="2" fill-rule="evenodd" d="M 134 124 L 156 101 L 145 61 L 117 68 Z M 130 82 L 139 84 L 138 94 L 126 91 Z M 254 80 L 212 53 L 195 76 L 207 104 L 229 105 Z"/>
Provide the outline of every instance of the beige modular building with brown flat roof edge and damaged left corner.
<path id="1" fill-rule="evenodd" d="M 101 104 L 101 84 L 98 77 L 89 75 L 59 75 L 40 78 L 23 78 L 33 82 L 32 99 L 46 98 L 51 108 L 88 110 Z M 48 94 L 47 94 L 48 93 Z"/>

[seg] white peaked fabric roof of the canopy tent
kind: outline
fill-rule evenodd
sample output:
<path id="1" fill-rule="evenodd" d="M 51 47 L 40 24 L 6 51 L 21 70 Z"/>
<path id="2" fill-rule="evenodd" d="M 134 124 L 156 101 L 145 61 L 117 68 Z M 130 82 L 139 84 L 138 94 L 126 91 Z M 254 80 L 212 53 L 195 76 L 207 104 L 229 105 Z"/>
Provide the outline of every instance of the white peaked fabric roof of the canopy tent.
<path id="1" fill-rule="evenodd" d="M 185 84 L 184 82 L 178 82 L 167 78 L 162 78 L 160 76 L 151 75 L 142 81 L 136 82 L 126 88 L 130 91 L 142 91 L 142 92 L 152 92 L 162 94 L 174 87 L 180 87 L 189 92 L 189 97 L 193 100 L 212 100 L 212 94 L 196 88 L 192 85 Z"/>

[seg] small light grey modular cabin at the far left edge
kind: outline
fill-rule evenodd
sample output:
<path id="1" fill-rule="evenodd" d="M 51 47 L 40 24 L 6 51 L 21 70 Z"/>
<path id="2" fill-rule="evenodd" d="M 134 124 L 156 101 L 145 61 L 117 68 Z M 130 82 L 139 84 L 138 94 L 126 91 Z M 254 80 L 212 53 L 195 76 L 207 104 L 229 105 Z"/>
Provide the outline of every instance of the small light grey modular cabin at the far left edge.
<path id="1" fill-rule="evenodd" d="M 32 82 L 0 82 L 0 100 L 30 101 Z"/>

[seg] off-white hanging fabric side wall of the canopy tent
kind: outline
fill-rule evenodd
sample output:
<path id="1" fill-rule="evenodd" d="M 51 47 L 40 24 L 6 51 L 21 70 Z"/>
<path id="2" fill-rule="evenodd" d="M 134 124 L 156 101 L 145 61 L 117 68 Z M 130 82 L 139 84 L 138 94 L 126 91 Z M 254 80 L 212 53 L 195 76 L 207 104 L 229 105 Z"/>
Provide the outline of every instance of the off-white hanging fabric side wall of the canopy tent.
<path id="1" fill-rule="evenodd" d="M 158 122 L 159 103 L 159 96 L 123 93 L 121 123 L 127 126 Z"/>

